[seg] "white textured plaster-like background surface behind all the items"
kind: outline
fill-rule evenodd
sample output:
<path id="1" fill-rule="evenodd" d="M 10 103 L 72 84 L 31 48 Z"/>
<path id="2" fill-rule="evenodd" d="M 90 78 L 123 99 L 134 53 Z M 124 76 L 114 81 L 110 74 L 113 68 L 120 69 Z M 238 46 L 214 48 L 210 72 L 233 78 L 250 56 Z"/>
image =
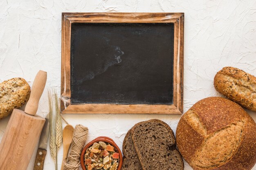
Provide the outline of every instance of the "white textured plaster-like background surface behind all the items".
<path id="1" fill-rule="evenodd" d="M 0 82 L 24 77 L 32 85 L 42 69 L 48 72 L 47 87 L 60 91 L 62 12 L 184 12 L 184 111 L 202 98 L 220 96 L 213 77 L 222 67 L 235 66 L 256 75 L 255 0 L 0 0 Z M 45 117 L 47 110 L 45 91 L 38 115 Z M 248 113 L 256 121 L 256 113 Z M 175 131 L 180 116 L 64 115 L 73 126 L 89 128 L 87 141 L 106 135 L 119 147 L 135 123 L 156 118 Z M 8 120 L 0 121 L 0 139 Z M 27 170 L 33 170 L 34 159 L 35 152 Z M 48 153 L 44 170 L 53 169 Z M 185 163 L 185 170 L 192 168 Z"/>

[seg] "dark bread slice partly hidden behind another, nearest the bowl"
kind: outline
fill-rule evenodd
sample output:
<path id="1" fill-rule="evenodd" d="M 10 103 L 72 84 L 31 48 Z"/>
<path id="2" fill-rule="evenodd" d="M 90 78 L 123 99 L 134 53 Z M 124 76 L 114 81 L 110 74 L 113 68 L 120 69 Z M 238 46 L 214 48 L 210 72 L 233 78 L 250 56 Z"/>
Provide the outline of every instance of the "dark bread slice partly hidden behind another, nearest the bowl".
<path id="1" fill-rule="evenodd" d="M 124 161 L 121 170 L 142 170 L 137 152 L 132 142 L 132 130 L 130 129 L 123 142 Z"/>

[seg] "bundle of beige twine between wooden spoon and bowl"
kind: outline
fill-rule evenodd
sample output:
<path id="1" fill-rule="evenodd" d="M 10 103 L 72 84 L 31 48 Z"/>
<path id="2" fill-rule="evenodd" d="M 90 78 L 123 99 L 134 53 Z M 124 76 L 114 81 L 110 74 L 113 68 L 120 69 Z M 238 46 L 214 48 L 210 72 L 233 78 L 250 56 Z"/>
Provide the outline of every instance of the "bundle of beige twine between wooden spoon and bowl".
<path id="1" fill-rule="evenodd" d="M 76 125 L 71 143 L 71 150 L 68 157 L 64 160 L 64 170 L 78 170 L 80 166 L 80 155 L 83 150 L 88 128 L 83 125 Z"/>

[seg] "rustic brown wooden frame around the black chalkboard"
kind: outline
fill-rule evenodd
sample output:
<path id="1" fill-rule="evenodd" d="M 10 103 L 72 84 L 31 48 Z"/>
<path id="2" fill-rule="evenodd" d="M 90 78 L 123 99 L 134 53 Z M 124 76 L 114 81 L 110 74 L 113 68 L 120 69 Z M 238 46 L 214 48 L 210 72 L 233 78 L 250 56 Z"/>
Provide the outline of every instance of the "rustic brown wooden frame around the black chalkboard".
<path id="1" fill-rule="evenodd" d="M 71 104 L 70 44 L 74 22 L 173 23 L 173 104 Z M 61 35 L 61 113 L 183 113 L 184 13 L 62 13 Z"/>

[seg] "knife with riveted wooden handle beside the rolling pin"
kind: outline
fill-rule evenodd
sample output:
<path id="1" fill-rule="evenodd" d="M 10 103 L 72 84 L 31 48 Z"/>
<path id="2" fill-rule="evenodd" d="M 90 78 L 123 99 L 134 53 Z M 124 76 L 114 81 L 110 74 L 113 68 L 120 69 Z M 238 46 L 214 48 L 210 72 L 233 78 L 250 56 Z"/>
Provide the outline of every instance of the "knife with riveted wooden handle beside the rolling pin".
<path id="1" fill-rule="evenodd" d="M 34 170 L 43 170 L 44 168 L 45 155 L 47 153 L 46 149 L 47 149 L 48 136 L 49 136 L 49 114 L 45 117 L 45 125 L 43 127 L 43 130 L 40 136 Z"/>

